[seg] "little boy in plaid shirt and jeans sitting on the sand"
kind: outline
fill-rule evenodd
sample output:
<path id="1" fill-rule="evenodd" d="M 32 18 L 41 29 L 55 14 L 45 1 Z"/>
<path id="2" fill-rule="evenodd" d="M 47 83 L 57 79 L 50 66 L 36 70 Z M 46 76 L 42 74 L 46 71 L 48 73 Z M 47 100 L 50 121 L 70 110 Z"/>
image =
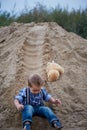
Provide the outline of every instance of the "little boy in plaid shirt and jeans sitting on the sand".
<path id="1" fill-rule="evenodd" d="M 28 87 L 20 90 L 15 96 L 14 104 L 22 113 L 23 130 L 30 130 L 33 116 L 48 119 L 52 127 L 60 130 L 62 125 L 53 111 L 44 105 L 43 101 L 61 104 L 59 99 L 54 99 L 43 86 L 43 80 L 38 74 L 33 74 L 28 79 Z"/>

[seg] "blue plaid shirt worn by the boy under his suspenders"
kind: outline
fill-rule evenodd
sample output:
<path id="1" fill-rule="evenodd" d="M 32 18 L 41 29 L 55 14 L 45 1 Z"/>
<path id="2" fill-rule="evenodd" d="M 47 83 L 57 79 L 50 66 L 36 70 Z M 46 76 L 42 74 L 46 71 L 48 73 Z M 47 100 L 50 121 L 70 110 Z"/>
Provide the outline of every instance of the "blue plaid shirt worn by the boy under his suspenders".
<path id="1" fill-rule="evenodd" d="M 29 94 L 29 104 L 32 106 L 39 106 L 39 105 L 44 105 L 44 101 L 49 101 L 51 98 L 51 94 L 47 92 L 47 90 L 42 87 L 41 91 L 37 94 L 33 94 L 30 91 Z M 19 101 L 20 104 L 26 105 L 26 87 L 21 89 L 18 93 L 18 95 L 15 96 L 15 99 Z"/>

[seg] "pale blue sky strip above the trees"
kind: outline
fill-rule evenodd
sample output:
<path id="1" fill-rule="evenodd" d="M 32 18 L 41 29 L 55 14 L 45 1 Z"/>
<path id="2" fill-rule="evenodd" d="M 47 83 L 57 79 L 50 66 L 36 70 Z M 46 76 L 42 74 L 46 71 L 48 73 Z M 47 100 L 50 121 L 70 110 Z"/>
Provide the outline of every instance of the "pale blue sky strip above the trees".
<path id="1" fill-rule="evenodd" d="M 68 7 L 69 11 L 72 9 L 85 9 L 87 7 L 87 0 L 0 0 L 0 10 L 15 13 L 21 12 L 25 6 L 32 9 L 37 3 L 45 5 L 48 9 L 55 8 L 59 4 L 60 7 Z"/>

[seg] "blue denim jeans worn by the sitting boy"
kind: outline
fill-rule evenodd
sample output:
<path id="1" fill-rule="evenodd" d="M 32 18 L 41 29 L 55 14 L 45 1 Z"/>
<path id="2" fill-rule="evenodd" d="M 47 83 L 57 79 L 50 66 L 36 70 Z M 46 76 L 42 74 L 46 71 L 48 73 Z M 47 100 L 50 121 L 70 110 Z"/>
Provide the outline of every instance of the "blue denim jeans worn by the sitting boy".
<path id="1" fill-rule="evenodd" d="M 57 120 L 59 122 L 58 117 L 53 113 L 53 111 L 46 106 L 31 106 L 25 105 L 24 109 L 22 110 L 22 123 L 23 126 L 25 122 L 32 123 L 33 116 L 40 116 L 47 118 L 48 122 L 52 125 L 52 122 Z M 61 123 L 59 122 L 60 126 Z M 53 125 L 52 125 L 53 126 Z"/>

